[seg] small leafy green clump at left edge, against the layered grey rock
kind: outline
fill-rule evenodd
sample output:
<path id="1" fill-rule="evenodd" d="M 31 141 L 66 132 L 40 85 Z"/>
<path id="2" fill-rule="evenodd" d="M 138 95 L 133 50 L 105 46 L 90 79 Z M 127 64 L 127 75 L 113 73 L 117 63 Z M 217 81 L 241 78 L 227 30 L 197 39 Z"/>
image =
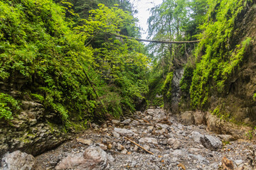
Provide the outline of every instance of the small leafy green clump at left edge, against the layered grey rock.
<path id="1" fill-rule="evenodd" d="M 18 101 L 8 94 L 0 93 L 0 119 L 13 119 L 14 111 L 20 109 Z"/>

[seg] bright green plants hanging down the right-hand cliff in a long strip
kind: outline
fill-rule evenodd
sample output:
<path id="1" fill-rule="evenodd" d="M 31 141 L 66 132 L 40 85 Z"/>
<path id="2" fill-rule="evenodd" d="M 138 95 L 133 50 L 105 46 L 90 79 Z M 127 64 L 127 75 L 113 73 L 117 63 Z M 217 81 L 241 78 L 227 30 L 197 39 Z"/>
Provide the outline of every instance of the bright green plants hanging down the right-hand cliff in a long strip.
<path id="1" fill-rule="evenodd" d="M 203 33 L 199 43 L 196 69 L 191 85 L 191 105 L 193 108 L 205 106 L 213 85 L 219 93 L 225 88 L 228 76 L 238 69 L 251 38 L 247 38 L 233 50 L 228 40 L 233 36 L 235 18 L 246 5 L 242 0 L 209 1 L 208 22 L 201 26 Z M 213 17 L 214 15 L 214 17 Z M 212 84 L 213 83 L 213 84 Z"/>

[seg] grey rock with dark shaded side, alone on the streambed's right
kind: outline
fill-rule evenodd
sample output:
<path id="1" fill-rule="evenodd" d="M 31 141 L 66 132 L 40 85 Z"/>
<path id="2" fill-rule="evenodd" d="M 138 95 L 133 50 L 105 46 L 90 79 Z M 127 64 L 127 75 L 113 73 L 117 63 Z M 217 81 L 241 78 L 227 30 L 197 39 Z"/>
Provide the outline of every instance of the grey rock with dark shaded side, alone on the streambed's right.
<path id="1" fill-rule="evenodd" d="M 222 142 L 218 139 L 218 137 L 204 135 L 203 137 L 200 137 L 200 141 L 204 147 L 210 150 L 218 150 L 222 147 Z"/>

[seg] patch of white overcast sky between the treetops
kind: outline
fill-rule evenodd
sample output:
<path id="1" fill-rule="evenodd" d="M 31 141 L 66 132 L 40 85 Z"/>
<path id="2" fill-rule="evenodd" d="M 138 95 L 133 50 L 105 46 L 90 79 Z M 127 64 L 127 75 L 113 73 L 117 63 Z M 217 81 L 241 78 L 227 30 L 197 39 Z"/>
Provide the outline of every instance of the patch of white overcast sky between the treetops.
<path id="1" fill-rule="evenodd" d="M 135 17 L 139 19 L 139 26 L 142 30 L 142 38 L 146 39 L 148 25 L 146 23 L 149 18 L 150 8 L 162 3 L 162 0 L 132 0 L 130 1 L 138 13 Z"/>

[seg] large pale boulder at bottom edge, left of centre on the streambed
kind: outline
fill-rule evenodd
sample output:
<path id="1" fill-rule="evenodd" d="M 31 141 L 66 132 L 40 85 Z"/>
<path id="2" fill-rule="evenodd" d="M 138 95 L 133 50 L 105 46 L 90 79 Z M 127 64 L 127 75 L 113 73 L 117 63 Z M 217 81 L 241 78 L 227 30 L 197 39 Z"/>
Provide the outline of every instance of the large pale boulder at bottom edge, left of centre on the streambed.
<path id="1" fill-rule="evenodd" d="M 55 169 L 109 169 L 110 162 L 114 162 L 114 158 L 110 154 L 107 154 L 107 152 L 100 147 L 91 146 L 85 149 L 84 153 L 80 152 L 78 154 L 68 155 L 68 157 L 65 157 Z"/>

